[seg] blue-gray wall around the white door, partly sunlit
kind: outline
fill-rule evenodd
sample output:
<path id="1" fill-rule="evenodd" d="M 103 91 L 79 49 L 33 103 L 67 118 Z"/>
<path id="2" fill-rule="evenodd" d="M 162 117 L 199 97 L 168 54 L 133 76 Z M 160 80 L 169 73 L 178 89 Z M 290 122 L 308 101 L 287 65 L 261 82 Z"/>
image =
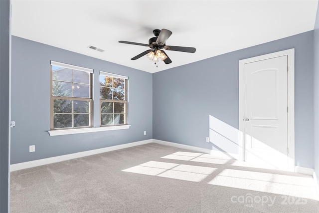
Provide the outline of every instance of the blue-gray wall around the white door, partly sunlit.
<path id="1" fill-rule="evenodd" d="M 153 74 L 153 138 L 238 154 L 233 138 L 239 128 L 239 60 L 295 48 L 295 159 L 298 166 L 314 168 L 313 35 L 309 31 Z M 205 142 L 209 116 L 218 121 L 214 128 L 230 132 L 229 138 L 220 137 L 223 143 Z"/>

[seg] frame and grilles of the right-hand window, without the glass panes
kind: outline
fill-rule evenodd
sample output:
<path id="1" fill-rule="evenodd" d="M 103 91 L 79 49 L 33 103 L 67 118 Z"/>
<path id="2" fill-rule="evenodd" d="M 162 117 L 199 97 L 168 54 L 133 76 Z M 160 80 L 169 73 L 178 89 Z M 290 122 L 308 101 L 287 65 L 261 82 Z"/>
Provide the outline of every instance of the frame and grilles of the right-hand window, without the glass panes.
<path id="1" fill-rule="evenodd" d="M 104 72 L 104 71 L 100 71 L 99 73 L 99 79 L 100 76 L 106 76 L 106 77 L 112 77 L 112 78 L 122 78 L 124 79 L 124 100 L 118 100 L 118 99 L 106 99 L 106 98 L 101 98 L 100 94 L 100 127 L 115 127 L 115 126 L 125 126 L 125 125 L 129 125 L 128 122 L 128 77 L 127 76 L 123 76 L 123 75 L 118 75 L 118 74 L 114 74 L 114 73 L 109 73 L 109 72 Z M 110 88 L 107 86 L 101 86 L 99 85 L 99 93 L 100 93 L 100 88 L 104 87 L 104 88 Z M 112 87 L 112 88 L 116 88 L 116 87 Z M 112 94 L 112 98 L 114 97 L 114 94 Z M 115 114 L 124 114 L 124 123 L 123 124 L 112 124 L 112 125 L 102 125 L 102 103 L 103 102 L 111 102 L 111 103 L 124 103 L 124 113 L 115 113 L 114 112 L 114 107 L 113 107 L 113 113 L 103 113 L 103 114 L 113 114 L 113 122 L 114 122 L 114 115 Z"/>

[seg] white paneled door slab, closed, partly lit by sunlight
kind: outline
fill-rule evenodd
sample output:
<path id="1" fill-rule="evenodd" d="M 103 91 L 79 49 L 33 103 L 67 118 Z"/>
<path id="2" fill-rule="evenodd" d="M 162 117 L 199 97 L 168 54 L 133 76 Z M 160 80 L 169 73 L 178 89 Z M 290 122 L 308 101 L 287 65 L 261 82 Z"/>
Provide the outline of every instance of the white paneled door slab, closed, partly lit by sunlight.
<path id="1" fill-rule="evenodd" d="M 287 55 L 244 64 L 244 160 L 288 167 Z"/>

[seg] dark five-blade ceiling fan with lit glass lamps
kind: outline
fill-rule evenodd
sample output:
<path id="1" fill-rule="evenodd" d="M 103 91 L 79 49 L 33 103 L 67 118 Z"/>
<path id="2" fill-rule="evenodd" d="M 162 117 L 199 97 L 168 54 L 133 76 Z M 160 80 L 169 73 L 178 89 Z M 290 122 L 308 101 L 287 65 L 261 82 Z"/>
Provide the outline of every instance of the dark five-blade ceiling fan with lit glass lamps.
<path id="1" fill-rule="evenodd" d="M 131 41 L 119 41 L 120 43 L 127 43 L 127 44 L 134 44 L 140 46 L 148 46 L 151 49 L 148 49 L 137 56 L 131 58 L 131 60 L 136 60 L 144 55 L 147 55 L 148 58 L 157 64 L 158 61 L 164 61 L 165 64 L 171 63 L 170 58 L 164 52 L 164 50 L 172 50 L 172 51 L 179 51 L 179 52 L 190 52 L 194 53 L 196 49 L 194 47 L 185 47 L 185 46 L 166 46 L 165 42 L 172 34 L 171 31 L 168 29 L 155 29 L 153 33 L 156 37 L 152 37 L 149 39 L 149 44 L 144 43 L 136 43 Z"/>

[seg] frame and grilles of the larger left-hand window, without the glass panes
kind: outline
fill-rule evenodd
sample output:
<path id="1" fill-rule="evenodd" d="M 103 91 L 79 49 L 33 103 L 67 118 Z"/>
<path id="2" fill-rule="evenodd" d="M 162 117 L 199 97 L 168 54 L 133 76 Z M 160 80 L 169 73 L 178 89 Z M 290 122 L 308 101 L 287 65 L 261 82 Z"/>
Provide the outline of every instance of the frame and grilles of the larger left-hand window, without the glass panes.
<path id="1" fill-rule="evenodd" d="M 72 69 L 72 82 L 69 81 L 59 81 L 59 82 L 67 82 L 67 83 L 74 83 L 73 82 L 73 70 L 77 71 L 83 71 L 83 72 L 88 72 L 89 73 L 89 84 L 83 84 L 83 83 L 78 83 L 78 84 L 83 84 L 83 85 L 89 85 L 89 98 L 80 98 L 80 97 L 72 97 L 72 96 L 53 96 L 52 94 L 52 83 L 53 83 L 53 71 L 52 71 L 52 66 L 58 66 L 58 67 L 63 67 L 63 68 L 68 68 Z M 83 129 L 83 128 L 92 128 L 93 124 L 93 99 L 92 99 L 92 91 L 93 91 L 93 84 L 92 84 L 92 79 L 93 79 L 93 69 L 89 68 L 84 68 L 84 67 L 79 67 L 71 64 L 65 64 L 61 62 L 56 62 L 56 61 L 51 61 L 50 63 L 50 94 L 51 94 L 51 106 L 50 106 L 50 130 L 51 131 L 57 131 L 57 130 L 73 130 L 73 129 Z M 77 83 L 77 82 L 75 82 Z M 73 89 L 71 92 L 71 95 L 73 95 Z M 64 100 L 71 100 L 72 103 L 73 101 L 89 101 L 89 112 L 88 113 L 74 113 L 73 109 L 73 104 L 72 104 L 72 113 L 62 113 L 62 114 L 72 114 L 72 127 L 65 127 L 65 128 L 54 128 L 54 100 L 55 99 L 64 99 Z M 80 126 L 80 127 L 74 127 L 74 115 L 76 114 L 89 114 L 89 125 L 88 126 Z"/>

